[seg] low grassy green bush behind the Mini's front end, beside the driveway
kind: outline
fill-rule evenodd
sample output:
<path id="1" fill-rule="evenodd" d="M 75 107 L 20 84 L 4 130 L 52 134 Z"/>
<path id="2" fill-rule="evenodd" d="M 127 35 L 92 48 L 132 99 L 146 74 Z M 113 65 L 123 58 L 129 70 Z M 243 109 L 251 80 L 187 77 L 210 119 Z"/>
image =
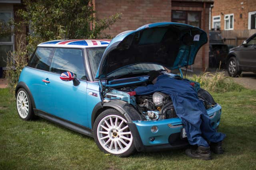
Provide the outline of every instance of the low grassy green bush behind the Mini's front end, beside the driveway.
<path id="1" fill-rule="evenodd" d="M 194 74 L 189 79 L 199 82 L 201 88 L 210 92 L 240 92 L 244 89 L 243 86 L 234 82 L 232 78 L 225 76 L 224 71 L 216 71 L 214 74 L 210 72 L 204 72 L 199 75 Z"/>

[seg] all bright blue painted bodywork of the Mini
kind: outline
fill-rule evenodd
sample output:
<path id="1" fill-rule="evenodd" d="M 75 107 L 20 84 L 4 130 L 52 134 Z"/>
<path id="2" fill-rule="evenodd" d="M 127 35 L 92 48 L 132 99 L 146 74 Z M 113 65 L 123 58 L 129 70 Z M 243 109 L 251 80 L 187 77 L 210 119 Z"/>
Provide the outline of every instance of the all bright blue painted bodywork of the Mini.
<path id="1" fill-rule="evenodd" d="M 168 26 L 168 25 L 179 25 L 182 29 L 182 27 L 192 27 L 190 25 L 182 24 L 182 23 L 170 23 L 170 22 L 162 22 L 162 23 L 153 23 L 153 24 L 147 24 L 144 25 L 135 31 L 130 31 L 124 34 L 120 34 L 117 37 L 115 37 L 111 42 L 110 45 L 108 45 L 107 49 L 114 43 L 118 41 L 122 41 L 125 37 L 132 33 L 136 33 L 142 29 L 148 29 L 152 27 L 158 27 L 158 26 Z M 204 31 L 202 31 L 202 39 L 207 41 L 207 37 L 204 37 Z M 58 42 L 61 42 L 64 40 L 58 40 L 58 41 L 51 41 L 46 42 L 43 44 L 56 44 Z M 147 39 L 143 40 L 144 42 L 147 41 Z M 142 43 L 143 43 L 142 41 Z M 102 45 L 108 44 L 108 42 L 100 41 Z M 203 43 L 203 41 L 202 41 Z M 75 41 L 71 42 L 69 44 L 72 45 L 88 45 L 86 41 Z M 198 49 L 200 45 L 193 47 L 194 49 Z M 187 54 L 187 50 L 181 47 L 181 52 L 178 54 L 178 57 L 176 58 L 176 64 L 174 66 L 171 66 L 170 68 L 176 68 L 177 66 L 180 67 L 182 64 L 185 63 L 185 61 L 182 61 L 180 65 L 180 57 L 184 54 Z M 194 55 L 196 54 L 195 50 L 191 51 L 191 58 L 189 60 L 188 64 L 192 64 L 194 62 Z M 193 60 L 193 61 L 192 61 Z M 178 65 L 177 65 L 178 62 Z M 187 62 L 187 61 L 186 61 Z M 99 70 L 98 70 L 99 71 Z M 93 125 L 91 123 L 92 119 L 92 111 L 96 104 L 98 104 L 101 101 L 100 98 L 100 84 L 99 82 L 87 82 L 84 80 L 80 80 L 80 84 L 78 86 L 74 86 L 72 81 L 62 81 L 59 78 L 60 74 L 54 74 L 48 71 L 42 71 L 30 67 L 25 67 L 19 78 L 19 82 L 24 82 L 30 92 L 32 93 L 32 96 L 34 98 L 34 102 L 36 105 L 36 109 L 40 109 L 42 111 L 45 111 L 49 114 L 55 115 L 57 117 L 60 117 L 62 119 L 66 119 L 68 121 L 71 121 L 73 123 L 77 123 L 79 125 L 88 127 L 92 129 Z M 96 77 L 99 76 L 98 72 Z M 169 74 L 169 76 L 177 76 L 176 74 Z M 127 78 L 129 80 L 129 78 Z M 50 83 L 42 82 L 42 80 L 48 80 Z M 115 80 L 111 80 L 108 82 L 109 84 L 106 84 L 106 87 L 114 87 L 114 86 L 124 86 L 128 84 L 134 84 L 134 83 L 140 83 L 145 82 L 148 80 L 148 76 L 141 76 L 139 77 L 139 80 L 136 82 L 126 82 L 126 83 L 119 83 L 114 84 Z M 105 85 L 105 82 L 102 82 L 103 85 Z M 135 106 L 135 96 L 131 96 L 129 98 L 128 94 L 124 92 L 118 92 L 113 91 L 116 94 L 116 96 L 123 97 L 123 100 L 130 103 L 131 105 Z M 94 95 L 90 95 L 94 94 Z M 111 98 L 112 99 L 118 99 L 118 98 Z M 108 99 L 109 100 L 109 99 Z M 216 105 L 210 109 L 207 110 L 208 115 L 212 116 L 212 122 L 214 122 L 214 128 L 218 127 L 220 124 L 220 114 L 221 114 L 221 106 Z M 144 145 L 150 146 L 150 145 L 160 145 L 160 144 L 166 144 L 168 143 L 168 137 L 172 133 L 178 133 L 181 131 L 182 127 L 176 127 L 176 128 L 170 128 L 168 127 L 168 124 L 172 125 L 182 125 L 182 121 L 179 118 L 172 118 L 172 119 L 165 119 L 165 120 L 158 120 L 158 121 L 133 121 L 135 123 L 140 137 L 142 139 L 142 143 Z M 158 126 L 158 132 L 152 133 L 151 127 L 153 125 Z M 150 141 L 151 137 L 155 137 L 155 140 L 153 142 Z"/>

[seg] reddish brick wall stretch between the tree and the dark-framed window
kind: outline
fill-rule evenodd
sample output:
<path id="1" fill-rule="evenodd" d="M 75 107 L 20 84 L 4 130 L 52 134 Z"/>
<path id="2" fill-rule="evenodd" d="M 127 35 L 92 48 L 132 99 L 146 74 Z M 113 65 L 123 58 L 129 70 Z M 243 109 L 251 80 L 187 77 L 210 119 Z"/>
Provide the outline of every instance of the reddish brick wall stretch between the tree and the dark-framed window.
<path id="1" fill-rule="evenodd" d="M 171 0 L 95 0 L 95 10 L 99 19 L 122 13 L 120 20 L 103 31 L 113 37 L 147 23 L 171 21 Z"/>

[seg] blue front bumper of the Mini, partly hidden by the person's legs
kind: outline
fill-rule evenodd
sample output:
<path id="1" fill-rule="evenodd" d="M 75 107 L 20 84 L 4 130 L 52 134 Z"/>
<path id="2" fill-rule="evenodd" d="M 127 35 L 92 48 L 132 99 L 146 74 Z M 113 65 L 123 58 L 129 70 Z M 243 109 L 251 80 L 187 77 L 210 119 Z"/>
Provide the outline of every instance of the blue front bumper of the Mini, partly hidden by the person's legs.
<path id="1" fill-rule="evenodd" d="M 217 129 L 220 124 L 221 106 L 216 104 L 208 109 L 207 113 L 211 119 L 212 127 Z M 180 118 L 132 121 L 128 125 L 138 151 L 167 150 L 189 145 L 187 138 L 182 138 L 184 126 Z M 151 132 L 152 126 L 158 127 L 156 133 Z"/>

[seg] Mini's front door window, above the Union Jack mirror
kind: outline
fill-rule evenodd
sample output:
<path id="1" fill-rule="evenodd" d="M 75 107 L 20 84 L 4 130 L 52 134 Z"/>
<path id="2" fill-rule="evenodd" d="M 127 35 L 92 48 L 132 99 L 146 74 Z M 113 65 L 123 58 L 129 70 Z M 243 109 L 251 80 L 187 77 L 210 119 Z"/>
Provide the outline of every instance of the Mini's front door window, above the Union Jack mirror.
<path id="1" fill-rule="evenodd" d="M 71 71 L 76 78 L 86 80 L 82 49 L 56 48 L 50 71 L 58 74 Z"/>

